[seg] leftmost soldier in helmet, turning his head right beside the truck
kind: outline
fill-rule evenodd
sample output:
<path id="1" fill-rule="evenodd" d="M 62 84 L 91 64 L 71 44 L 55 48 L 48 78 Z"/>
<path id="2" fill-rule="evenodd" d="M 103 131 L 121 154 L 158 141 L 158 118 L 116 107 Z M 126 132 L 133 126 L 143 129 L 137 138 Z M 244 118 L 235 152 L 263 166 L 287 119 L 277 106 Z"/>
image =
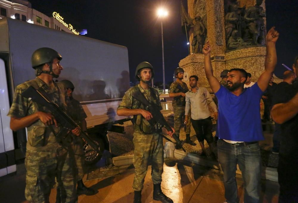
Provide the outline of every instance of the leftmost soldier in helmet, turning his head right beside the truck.
<path id="1" fill-rule="evenodd" d="M 31 85 L 44 91 L 52 102 L 66 111 L 63 85 L 53 81 L 63 69 L 59 63 L 61 59 L 61 55 L 51 48 L 40 48 L 32 54 L 31 63 L 37 77 L 16 87 L 8 113 L 12 130 L 25 127 L 28 130 L 25 197 L 30 202 L 49 202 L 55 177 L 61 185 L 62 202 L 77 201 L 72 144 L 62 147 L 55 137 L 61 126 L 51 112 L 21 95 Z M 78 136 L 80 128 L 73 129 L 72 133 Z"/>

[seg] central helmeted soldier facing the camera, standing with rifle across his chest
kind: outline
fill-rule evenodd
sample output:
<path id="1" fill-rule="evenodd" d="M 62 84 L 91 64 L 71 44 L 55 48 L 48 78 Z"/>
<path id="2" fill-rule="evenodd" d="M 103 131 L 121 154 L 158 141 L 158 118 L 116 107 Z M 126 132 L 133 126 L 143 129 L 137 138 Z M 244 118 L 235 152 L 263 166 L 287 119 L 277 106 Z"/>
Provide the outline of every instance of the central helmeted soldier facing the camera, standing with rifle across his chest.
<path id="1" fill-rule="evenodd" d="M 153 199 L 173 202 L 162 193 L 160 187 L 164 163 L 162 129 L 151 124 L 152 114 L 148 108 L 132 97 L 135 92 L 140 91 L 149 102 L 155 103 L 162 110 L 158 92 L 149 86 L 154 77 L 152 65 L 148 62 L 140 63 L 136 67 L 135 76 L 140 83 L 128 89 L 117 109 L 119 116 L 134 116 L 134 203 L 141 202 L 141 192 L 149 162 L 152 163 Z M 167 134 L 173 136 L 170 131 Z"/>

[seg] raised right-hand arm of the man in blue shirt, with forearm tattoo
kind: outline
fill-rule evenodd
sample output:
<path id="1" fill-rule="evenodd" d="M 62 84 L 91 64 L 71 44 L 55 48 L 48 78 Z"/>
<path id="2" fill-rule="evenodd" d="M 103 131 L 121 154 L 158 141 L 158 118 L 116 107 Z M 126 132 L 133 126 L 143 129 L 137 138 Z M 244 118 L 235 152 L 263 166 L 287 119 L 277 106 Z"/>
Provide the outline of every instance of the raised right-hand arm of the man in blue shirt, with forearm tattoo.
<path id="1" fill-rule="evenodd" d="M 277 56 L 275 43 L 278 39 L 279 33 L 272 27 L 266 36 L 266 58 L 265 58 L 265 71 L 260 75 L 257 84 L 264 92 L 269 84 L 269 80 L 273 75 Z"/>

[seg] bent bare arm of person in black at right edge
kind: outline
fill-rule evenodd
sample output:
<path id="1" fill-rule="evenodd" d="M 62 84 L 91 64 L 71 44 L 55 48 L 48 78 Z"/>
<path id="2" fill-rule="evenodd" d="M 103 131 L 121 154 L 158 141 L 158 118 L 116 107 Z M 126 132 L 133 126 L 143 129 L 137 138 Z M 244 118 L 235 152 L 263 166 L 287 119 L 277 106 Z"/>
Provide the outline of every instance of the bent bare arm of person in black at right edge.
<path id="1" fill-rule="evenodd" d="M 282 124 L 298 114 L 298 93 L 287 103 L 275 104 L 271 109 L 271 117 Z"/>

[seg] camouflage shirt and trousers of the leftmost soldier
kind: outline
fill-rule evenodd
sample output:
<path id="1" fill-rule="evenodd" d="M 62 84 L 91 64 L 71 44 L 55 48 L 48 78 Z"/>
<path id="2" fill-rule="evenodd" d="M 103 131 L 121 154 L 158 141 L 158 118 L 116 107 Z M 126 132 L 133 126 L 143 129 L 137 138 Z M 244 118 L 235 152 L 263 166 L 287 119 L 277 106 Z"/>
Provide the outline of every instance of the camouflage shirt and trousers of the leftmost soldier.
<path id="1" fill-rule="evenodd" d="M 8 116 L 26 117 L 38 111 L 49 112 L 44 106 L 21 96 L 21 93 L 30 85 L 43 89 L 52 102 L 66 111 L 62 84 L 53 82 L 54 88 L 51 88 L 36 77 L 34 80 L 26 81 L 16 87 Z M 68 149 L 61 147 L 53 133 L 57 134 L 60 127 L 46 126 L 40 119 L 28 126 L 27 130 L 26 199 L 30 202 L 48 202 L 51 188 L 55 183 L 55 177 L 57 177 L 58 184 L 63 185 L 61 188 L 62 202 L 75 202 L 77 200 L 77 179 L 73 164 L 75 160 L 72 145 L 70 144 Z"/>

